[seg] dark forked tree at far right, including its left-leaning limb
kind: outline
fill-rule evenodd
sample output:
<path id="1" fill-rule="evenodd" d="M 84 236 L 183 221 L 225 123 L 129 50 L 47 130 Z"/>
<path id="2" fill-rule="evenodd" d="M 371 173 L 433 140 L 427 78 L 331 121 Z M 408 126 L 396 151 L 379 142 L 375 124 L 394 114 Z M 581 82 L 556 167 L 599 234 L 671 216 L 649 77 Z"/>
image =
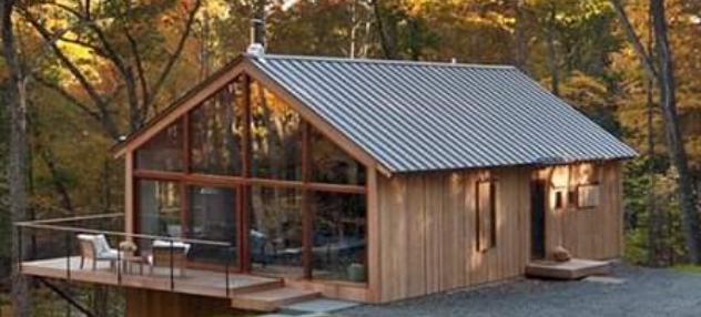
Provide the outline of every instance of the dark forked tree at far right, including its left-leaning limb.
<path id="1" fill-rule="evenodd" d="M 667 136 L 668 155 L 675 167 L 679 186 L 679 205 L 682 215 L 685 247 L 689 260 L 701 264 L 701 249 L 699 248 L 699 212 L 697 209 L 698 197 L 694 194 L 693 178 L 684 141 L 681 134 L 680 120 L 677 109 L 677 83 L 672 52 L 668 39 L 668 21 L 663 0 L 650 0 L 650 13 L 652 14 L 652 29 L 654 37 L 654 55 L 642 45 L 640 38 L 633 29 L 628 14 L 620 0 L 610 0 L 626 30 L 646 75 L 654 81 L 660 93 L 664 132 Z"/>

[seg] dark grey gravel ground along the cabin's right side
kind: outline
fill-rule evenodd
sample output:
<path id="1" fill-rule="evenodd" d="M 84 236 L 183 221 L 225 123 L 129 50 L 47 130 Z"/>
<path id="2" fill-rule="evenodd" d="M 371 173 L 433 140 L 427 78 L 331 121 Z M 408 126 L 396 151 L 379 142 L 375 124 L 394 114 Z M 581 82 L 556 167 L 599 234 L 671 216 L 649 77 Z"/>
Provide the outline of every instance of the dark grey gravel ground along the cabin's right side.
<path id="1" fill-rule="evenodd" d="M 524 279 L 474 290 L 437 294 L 341 316 L 598 317 L 701 316 L 701 274 L 618 266 L 621 284 Z"/>

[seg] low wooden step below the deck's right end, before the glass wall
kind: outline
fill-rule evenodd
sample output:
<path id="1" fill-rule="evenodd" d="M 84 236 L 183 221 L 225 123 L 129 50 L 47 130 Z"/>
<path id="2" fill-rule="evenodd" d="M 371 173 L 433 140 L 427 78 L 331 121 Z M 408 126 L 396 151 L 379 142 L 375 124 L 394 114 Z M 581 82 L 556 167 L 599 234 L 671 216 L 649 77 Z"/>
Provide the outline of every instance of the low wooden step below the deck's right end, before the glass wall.
<path id="1" fill-rule="evenodd" d="M 319 295 L 315 290 L 285 286 L 234 296 L 231 305 L 238 309 L 271 313 L 282 306 L 317 298 Z"/>

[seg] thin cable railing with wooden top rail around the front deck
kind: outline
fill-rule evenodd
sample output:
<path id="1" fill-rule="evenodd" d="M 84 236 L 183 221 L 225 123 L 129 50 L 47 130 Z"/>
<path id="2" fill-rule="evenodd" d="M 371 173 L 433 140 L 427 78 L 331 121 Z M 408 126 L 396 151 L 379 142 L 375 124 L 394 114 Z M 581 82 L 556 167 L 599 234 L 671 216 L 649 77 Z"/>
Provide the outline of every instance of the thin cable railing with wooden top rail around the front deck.
<path id="1" fill-rule="evenodd" d="M 187 272 L 191 257 L 197 257 L 215 264 L 216 269 L 210 272 L 223 270 L 222 295 L 233 295 L 231 267 L 235 265 L 236 249 L 231 243 L 125 233 L 121 213 L 21 222 L 16 229 L 21 270 L 43 265 L 62 270 L 68 280 L 78 274 L 108 274 L 114 277 L 111 283 L 119 286 L 130 286 L 125 282 L 134 277 L 159 283 L 166 279 L 167 288 L 176 292 L 179 283 L 196 278 Z"/>

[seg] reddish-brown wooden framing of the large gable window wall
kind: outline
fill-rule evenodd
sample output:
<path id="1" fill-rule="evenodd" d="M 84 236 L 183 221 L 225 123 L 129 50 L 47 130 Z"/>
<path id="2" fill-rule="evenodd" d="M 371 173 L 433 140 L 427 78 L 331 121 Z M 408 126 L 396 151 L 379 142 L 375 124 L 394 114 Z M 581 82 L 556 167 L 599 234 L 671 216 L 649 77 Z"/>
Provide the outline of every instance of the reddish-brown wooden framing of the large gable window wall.
<path id="1" fill-rule="evenodd" d="M 250 193 L 251 193 L 251 187 L 252 186 L 268 186 L 268 187 L 280 187 L 280 188 L 294 188 L 294 190 L 299 190 L 303 193 L 303 207 L 302 207 L 302 217 L 303 217 L 303 241 L 304 241 L 304 247 L 303 247 L 303 266 L 304 266 L 304 278 L 306 279 L 313 279 L 313 267 L 312 267 L 312 237 L 313 237 L 313 213 L 311 211 L 311 206 L 309 206 L 309 195 L 313 195 L 314 192 L 331 192 L 331 193 L 342 193 L 342 194 L 362 194 L 365 195 L 365 200 L 366 200 L 366 207 L 365 207 L 365 222 L 368 223 L 368 202 L 367 200 L 369 198 L 367 195 L 367 180 L 364 180 L 363 185 L 349 185 L 349 184 L 333 184 L 333 183 L 319 183 L 319 182 L 312 182 L 312 166 L 311 166 L 311 161 L 313 160 L 312 157 L 312 129 L 313 125 L 305 120 L 304 117 L 302 117 L 301 120 L 301 124 L 302 124 L 302 180 L 299 181 L 285 181 L 285 180 L 274 180 L 274 178 L 260 178 L 260 177 L 253 177 L 252 176 L 252 140 L 251 140 L 251 123 L 252 123 L 252 114 L 251 114 L 251 105 L 252 105 L 252 91 L 251 91 L 251 86 L 252 86 L 253 82 L 252 82 L 252 78 L 247 74 L 242 74 L 237 78 L 235 78 L 234 80 L 232 80 L 231 82 L 228 82 L 227 84 L 225 84 L 221 90 L 215 91 L 214 93 L 211 94 L 211 98 L 215 98 L 222 90 L 228 89 L 231 85 L 241 85 L 242 86 L 242 92 L 243 92 L 243 102 L 238 102 L 238 99 L 236 98 L 236 94 L 238 93 L 238 91 L 236 91 L 236 88 L 234 88 L 234 98 L 233 98 L 233 102 L 235 103 L 232 106 L 241 106 L 243 108 L 243 122 L 242 122 L 242 126 L 243 126 L 243 139 L 241 140 L 241 144 L 240 144 L 240 153 L 242 155 L 241 157 L 241 175 L 221 175 L 221 174 L 201 174 L 201 173 L 193 173 L 192 172 L 192 164 L 191 164 L 191 146 L 192 146 L 192 140 L 191 140 L 191 114 L 193 111 L 195 111 L 199 106 L 202 106 L 202 104 L 204 104 L 205 102 L 209 101 L 209 98 L 203 100 L 202 103 L 200 103 L 197 106 L 193 108 L 192 110 L 185 112 L 185 114 L 183 114 L 181 117 L 179 117 L 177 120 L 182 120 L 182 124 L 183 124 L 183 144 L 182 144 L 182 152 L 181 152 L 181 157 L 182 157 L 182 171 L 158 171 L 158 170 L 144 170 L 144 168 L 139 168 L 139 166 L 135 165 L 135 161 L 136 161 L 136 156 L 138 156 L 138 151 L 141 149 L 141 146 L 136 147 L 133 150 L 133 155 L 132 156 L 132 166 L 133 170 L 131 171 L 131 177 L 133 178 L 134 184 L 138 184 L 139 181 L 162 181 L 162 182 L 174 182 L 179 184 L 179 191 L 180 191 L 180 197 L 181 197 L 181 222 L 183 224 L 187 223 L 187 217 L 190 216 L 189 213 L 189 195 L 187 195 L 187 186 L 191 185 L 200 185 L 200 186 L 212 186 L 212 187 L 234 187 L 234 190 L 236 191 L 237 195 L 238 195 L 238 200 L 236 203 L 236 215 L 235 217 L 242 223 L 238 226 L 238 235 L 237 235 L 237 244 L 240 244 L 240 252 L 237 255 L 238 258 L 238 265 L 237 265 L 237 272 L 240 273 L 251 273 L 251 250 L 250 250 L 250 237 L 246 234 L 248 232 L 250 225 L 250 214 L 251 214 L 251 202 L 250 202 Z M 263 83 L 258 83 L 261 84 L 261 86 L 265 88 L 265 84 Z M 278 98 L 275 93 L 271 92 L 272 95 L 274 95 L 275 98 Z M 296 111 L 294 109 L 294 106 L 291 106 L 294 111 Z M 319 133 L 321 135 L 327 137 L 332 143 L 335 143 L 336 145 L 338 145 L 337 142 L 334 142 L 332 137 L 329 137 L 326 133 L 323 133 L 321 130 L 316 130 L 315 131 L 317 133 Z M 153 136 L 155 137 L 156 135 L 159 135 L 158 133 Z M 144 144 L 148 144 L 148 142 L 145 142 Z M 348 154 L 349 155 L 349 154 Z M 350 157 L 353 157 L 353 155 L 349 155 Z M 354 160 L 358 161 L 358 164 L 360 166 L 363 166 L 364 168 L 366 168 L 365 171 L 365 177 L 367 178 L 368 176 L 368 171 L 370 170 L 370 166 L 367 166 L 366 164 L 363 164 L 359 160 L 357 160 L 356 157 L 353 157 Z M 140 202 L 140 197 L 139 197 L 139 193 L 138 193 L 138 186 L 134 186 L 134 188 L 132 188 L 132 194 L 133 194 L 133 206 L 132 206 L 132 211 L 134 213 L 134 216 L 132 217 L 132 225 L 133 228 L 139 229 L 140 228 L 140 224 L 139 224 L 139 215 L 140 215 L 140 209 L 139 209 L 139 202 Z M 185 232 L 183 232 L 185 234 Z M 369 232 L 366 231 L 366 239 L 367 235 L 369 234 Z M 365 250 L 365 263 L 367 263 L 367 258 L 369 256 L 368 254 L 369 248 L 366 248 Z M 365 265 L 365 269 L 367 272 L 367 264 Z"/>

